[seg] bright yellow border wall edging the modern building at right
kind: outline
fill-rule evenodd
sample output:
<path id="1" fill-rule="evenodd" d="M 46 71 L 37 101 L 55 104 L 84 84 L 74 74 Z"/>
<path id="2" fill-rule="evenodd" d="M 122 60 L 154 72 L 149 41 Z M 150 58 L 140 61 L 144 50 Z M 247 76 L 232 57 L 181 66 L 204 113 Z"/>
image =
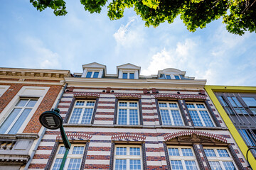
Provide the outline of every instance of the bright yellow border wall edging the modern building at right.
<path id="1" fill-rule="evenodd" d="M 242 154 L 246 158 L 246 152 L 248 150 L 248 147 L 245 144 L 244 140 L 242 140 L 240 133 L 238 132 L 238 130 L 235 128 L 232 121 L 228 117 L 228 114 L 225 113 L 224 108 L 221 106 L 221 104 L 218 101 L 218 98 L 215 96 L 214 92 L 256 93 L 256 87 L 252 87 L 252 86 L 205 86 L 205 89 L 206 89 L 206 92 L 208 93 L 210 99 L 213 101 L 215 107 L 217 108 L 218 113 L 220 113 L 220 116 L 223 118 L 225 124 L 227 125 L 228 129 L 230 130 L 231 135 L 233 135 L 235 142 L 237 142 L 238 147 L 240 147 Z M 250 152 L 248 153 L 248 161 L 249 161 L 250 165 L 252 166 L 252 169 L 256 170 L 256 160 Z"/>

